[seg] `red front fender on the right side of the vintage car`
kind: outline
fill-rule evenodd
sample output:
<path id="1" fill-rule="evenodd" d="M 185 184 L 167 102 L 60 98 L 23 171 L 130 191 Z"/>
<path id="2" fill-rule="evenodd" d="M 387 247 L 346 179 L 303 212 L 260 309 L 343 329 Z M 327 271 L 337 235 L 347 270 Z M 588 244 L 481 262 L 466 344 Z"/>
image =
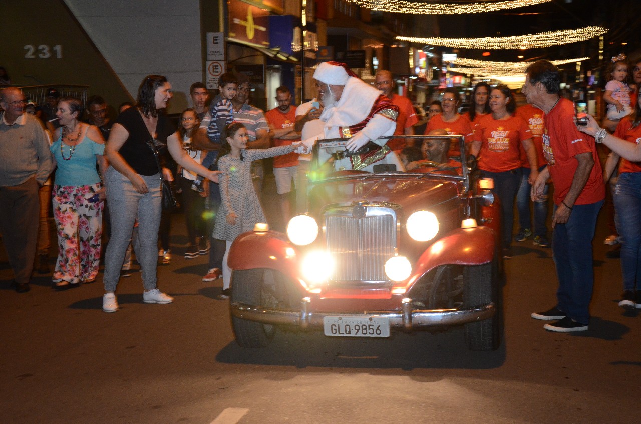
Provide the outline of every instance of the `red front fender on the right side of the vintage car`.
<path id="1" fill-rule="evenodd" d="M 484 265 L 494 259 L 494 231 L 487 227 L 456 229 L 428 247 L 419 257 L 410 278 L 416 282 L 441 265 Z"/>

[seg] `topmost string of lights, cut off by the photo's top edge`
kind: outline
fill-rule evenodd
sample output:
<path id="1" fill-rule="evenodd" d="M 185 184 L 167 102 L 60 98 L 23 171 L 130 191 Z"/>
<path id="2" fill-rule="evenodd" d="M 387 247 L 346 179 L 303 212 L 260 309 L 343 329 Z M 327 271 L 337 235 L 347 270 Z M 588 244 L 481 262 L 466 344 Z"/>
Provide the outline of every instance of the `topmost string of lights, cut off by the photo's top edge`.
<path id="1" fill-rule="evenodd" d="M 553 0 L 511 0 L 471 4 L 423 3 L 403 0 L 345 0 L 349 3 L 376 12 L 410 13 L 413 15 L 465 15 L 467 13 L 497 12 L 497 10 L 516 9 L 535 4 L 549 3 Z"/>

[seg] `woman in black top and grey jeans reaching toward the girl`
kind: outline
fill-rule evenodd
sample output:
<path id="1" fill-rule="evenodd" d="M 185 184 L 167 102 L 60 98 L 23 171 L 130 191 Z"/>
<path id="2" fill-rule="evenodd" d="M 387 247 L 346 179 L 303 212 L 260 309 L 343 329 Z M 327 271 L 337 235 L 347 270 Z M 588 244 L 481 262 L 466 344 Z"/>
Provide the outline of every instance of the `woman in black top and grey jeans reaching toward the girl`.
<path id="1" fill-rule="evenodd" d="M 137 218 L 139 251 L 136 255 L 142 268 L 143 301 L 173 302 L 173 298 L 156 288 L 156 247 L 162 207 L 158 165 L 148 143 L 151 141 L 161 149 L 167 147 L 178 165 L 218 181 L 218 172 L 207 170 L 185 154 L 178 133 L 161 112 L 171 97 L 171 85 L 165 77 L 146 77 L 138 88 L 137 106 L 119 115 L 104 149 L 111 165 L 105 184 L 112 216 L 112 234 L 104 257 L 104 312 L 118 310 L 115 289 Z"/>

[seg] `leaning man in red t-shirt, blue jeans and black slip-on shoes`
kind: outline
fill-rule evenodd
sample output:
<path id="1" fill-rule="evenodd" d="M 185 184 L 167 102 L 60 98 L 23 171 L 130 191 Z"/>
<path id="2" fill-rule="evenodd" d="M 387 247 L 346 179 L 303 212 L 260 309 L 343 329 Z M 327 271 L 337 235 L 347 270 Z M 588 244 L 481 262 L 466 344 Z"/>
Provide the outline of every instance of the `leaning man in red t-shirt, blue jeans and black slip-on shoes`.
<path id="1" fill-rule="evenodd" d="M 539 199 L 549 177 L 554 182 L 552 252 L 559 288 L 557 304 L 549 311 L 533 313 L 536 320 L 558 320 L 544 325 L 554 332 L 586 331 L 588 307 L 594 286 L 592 239 L 605 186 L 594 138 L 574 125 L 574 105 L 560 92 L 559 70 L 539 60 L 526 70 L 522 88 L 529 104 L 544 111 L 543 153 L 547 167 L 533 184 L 533 200 Z"/>

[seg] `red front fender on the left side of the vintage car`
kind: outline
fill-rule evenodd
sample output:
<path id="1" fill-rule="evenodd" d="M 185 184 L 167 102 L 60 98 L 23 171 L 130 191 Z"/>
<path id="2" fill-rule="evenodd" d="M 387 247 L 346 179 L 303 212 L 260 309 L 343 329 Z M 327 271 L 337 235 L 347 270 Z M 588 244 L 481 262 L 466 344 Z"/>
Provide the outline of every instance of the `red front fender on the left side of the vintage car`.
<path id="1" fill-rule="evenodd" d="M 231 244 L 227 263 L 237 271 L 270 268 L 297 281 L 298 254 L 281 232 L 245 232 Z"/>

